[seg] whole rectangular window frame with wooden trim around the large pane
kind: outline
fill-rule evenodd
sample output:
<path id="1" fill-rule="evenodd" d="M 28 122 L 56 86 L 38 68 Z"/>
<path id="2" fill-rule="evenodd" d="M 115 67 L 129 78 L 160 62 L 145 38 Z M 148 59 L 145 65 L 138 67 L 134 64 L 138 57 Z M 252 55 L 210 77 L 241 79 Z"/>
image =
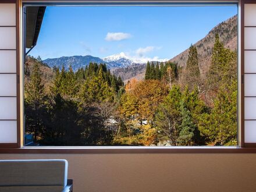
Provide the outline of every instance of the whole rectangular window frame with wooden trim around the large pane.
<path id="1" fill-rule="evenodd" d="M 6 0 L 8 2 L 15 0 Z M 160 4 L 159 4 L 160 3 Z M 256 143 L 245 144 L 244 143 L 244 3 L 256 3 L 255 0 L 219 0 L 219 1 L 125 1 L 125 0 L 113 0 L 113 1 L 63 1 L 63 0 L 16 0 L 16 42 L 17 42 L 17 143 L 16 144 L 0 144 L 0 153 L 28 153 L 28 154 L 126 154 L 126 153 L 251 153 L 256 152 Z M 237 20 L 237 44 L 238 44 L 238 101 L 237 101 L 237 138 L 238 145 L 234 147 L 24 147 L 23 146 L 23 119 L 24 119 L 24 107 L 23 107 L 23 24 L 22 24 L 22 12 L 24 5 L 165 5 L 165 6 L 177 6 L 177 5 L 237 5 L 238 8 L 238 20 Z M 21 69 L 21 70 L 20 70 Z M 22 105 L 21 105 L 22 104 Z"/>

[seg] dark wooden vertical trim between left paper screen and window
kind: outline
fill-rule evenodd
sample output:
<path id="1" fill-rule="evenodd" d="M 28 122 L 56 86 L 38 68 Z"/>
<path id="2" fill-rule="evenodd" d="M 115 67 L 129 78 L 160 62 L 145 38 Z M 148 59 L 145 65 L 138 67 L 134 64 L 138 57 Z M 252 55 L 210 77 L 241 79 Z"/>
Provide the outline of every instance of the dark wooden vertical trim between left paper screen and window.
<path id="1" fill-rule="evenodd" d="M 16 73 L 17 73 L 17 147 L 21 147 L 21 127 L 20 127 L 20 0 L 16 0 Z"/>

